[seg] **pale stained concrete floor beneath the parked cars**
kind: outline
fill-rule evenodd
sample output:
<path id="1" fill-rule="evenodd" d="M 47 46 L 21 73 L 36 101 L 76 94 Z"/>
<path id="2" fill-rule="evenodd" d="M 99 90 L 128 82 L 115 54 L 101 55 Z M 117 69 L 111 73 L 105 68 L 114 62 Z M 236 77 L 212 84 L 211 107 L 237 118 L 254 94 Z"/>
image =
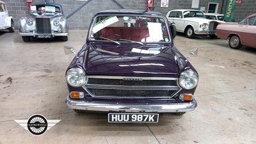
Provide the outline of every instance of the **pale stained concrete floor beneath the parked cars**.
<path id="1" fill-rule="evenodd" d="M 71 30 L 68 42 L 23 42 L 0 32 L 0 144 L 5 143 L 256 143 L 256 49 L 230 49 L 226 40 L 189 39 L 175 45 L 200 74 L 198 108 L 184 116 L 164 114 L 158 124 L 109 124 L 106 114 L 77 115 L 67 108 L 65 70 L 81 49 L 86 30 Z M 14 120 L 41 114 L 61 120 L 42 136 L 33 136 Z"/>

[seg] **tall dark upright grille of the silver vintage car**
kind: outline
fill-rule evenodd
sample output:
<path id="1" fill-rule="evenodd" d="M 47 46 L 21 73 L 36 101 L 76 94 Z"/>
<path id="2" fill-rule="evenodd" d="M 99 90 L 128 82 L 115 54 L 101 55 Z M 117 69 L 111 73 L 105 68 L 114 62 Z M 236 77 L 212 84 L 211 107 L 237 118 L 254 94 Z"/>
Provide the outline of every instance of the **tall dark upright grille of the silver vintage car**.
<path id="1" fill-rule="evenodd" d="M 36 17 L 36 33 L 38 34 L 51 33 L 51 22 L 49 18 Z"/>

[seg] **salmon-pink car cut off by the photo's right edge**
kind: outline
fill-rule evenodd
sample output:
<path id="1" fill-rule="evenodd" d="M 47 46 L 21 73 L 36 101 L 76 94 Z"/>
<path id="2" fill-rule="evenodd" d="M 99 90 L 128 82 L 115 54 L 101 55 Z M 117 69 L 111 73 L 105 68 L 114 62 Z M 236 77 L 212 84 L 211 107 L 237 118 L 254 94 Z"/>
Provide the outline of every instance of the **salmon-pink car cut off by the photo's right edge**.
<path id="1" fill-rule="evenodd" d="M 256 13 L 249 15 L 238 24 L 221 23 L 217 26 L 216 35 L 228 40 L 232 49 L 242 45 L 256 48 Z"/>

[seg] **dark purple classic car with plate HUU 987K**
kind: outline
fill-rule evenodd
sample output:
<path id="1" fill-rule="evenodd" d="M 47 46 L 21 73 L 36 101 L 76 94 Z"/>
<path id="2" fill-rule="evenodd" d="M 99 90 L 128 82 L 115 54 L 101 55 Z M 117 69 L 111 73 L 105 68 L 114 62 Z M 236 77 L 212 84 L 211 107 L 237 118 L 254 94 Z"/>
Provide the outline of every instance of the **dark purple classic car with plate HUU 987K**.
<path id="1" fill-rule="evenodd" d="M 108 122 L 158 122 L 197 104 L 198 73 L 173 45 L 171 24 L 158 12 L 103 10 L 67 68 L 66 103 L 77 113 L 107 112 Z M 196 54 L 197 49 L 191 51 Z"/>

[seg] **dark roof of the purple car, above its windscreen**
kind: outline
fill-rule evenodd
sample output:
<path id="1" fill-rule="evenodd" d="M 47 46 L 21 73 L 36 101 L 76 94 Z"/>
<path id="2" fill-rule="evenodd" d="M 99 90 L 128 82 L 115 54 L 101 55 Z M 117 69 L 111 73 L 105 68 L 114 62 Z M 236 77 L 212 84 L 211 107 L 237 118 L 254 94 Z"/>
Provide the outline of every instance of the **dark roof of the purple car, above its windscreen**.
<path id="1" fill-rule="evenodd" d="M 147 11 L 147 10 L 129 10 L 129 9 L 118 9 L 118 10 L 101 10 L 97 12 L 95 15 L 106 15 L 106 14 L 134 14 L 134 15 L 161 15 L 162 13 Z"/>

